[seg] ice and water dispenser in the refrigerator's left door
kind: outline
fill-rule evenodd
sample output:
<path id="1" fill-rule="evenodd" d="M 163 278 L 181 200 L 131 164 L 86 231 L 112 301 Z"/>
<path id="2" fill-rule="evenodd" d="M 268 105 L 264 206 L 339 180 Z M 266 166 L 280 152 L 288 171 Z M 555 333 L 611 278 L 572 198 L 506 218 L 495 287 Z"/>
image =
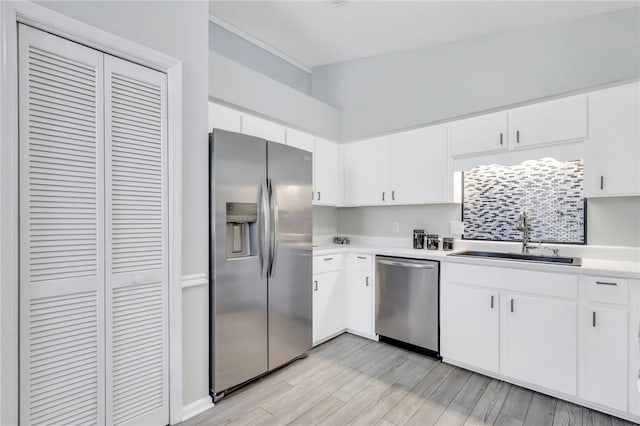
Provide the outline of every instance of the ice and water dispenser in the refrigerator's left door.
<path id="1" fill-rule="evenodd" d="M 255 203 L 227 203 L 227 258 L 257 255 L 258 208 Z"/>

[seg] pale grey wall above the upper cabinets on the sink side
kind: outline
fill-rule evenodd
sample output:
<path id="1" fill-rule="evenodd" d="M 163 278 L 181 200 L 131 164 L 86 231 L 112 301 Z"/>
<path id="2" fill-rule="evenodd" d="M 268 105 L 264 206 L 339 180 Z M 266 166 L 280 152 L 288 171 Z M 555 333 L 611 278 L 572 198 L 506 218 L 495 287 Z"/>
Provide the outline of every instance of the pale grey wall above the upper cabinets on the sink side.
<path id="1" fill-rule="evenodd" d="M 313 68 L 355 140 L 640 77 L 640 9 Z"/>

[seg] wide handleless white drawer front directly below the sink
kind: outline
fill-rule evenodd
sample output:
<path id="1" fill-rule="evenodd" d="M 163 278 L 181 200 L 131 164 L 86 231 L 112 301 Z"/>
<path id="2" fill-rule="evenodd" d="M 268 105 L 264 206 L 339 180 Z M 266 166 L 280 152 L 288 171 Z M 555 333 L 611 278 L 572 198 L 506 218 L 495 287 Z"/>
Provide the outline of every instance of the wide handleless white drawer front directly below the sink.
<path id="1" fill-rule="evenodd" d="M 448 263 L 447 281 L 545 296 L 578 298 L 578 276 L 573 274 Z"/>

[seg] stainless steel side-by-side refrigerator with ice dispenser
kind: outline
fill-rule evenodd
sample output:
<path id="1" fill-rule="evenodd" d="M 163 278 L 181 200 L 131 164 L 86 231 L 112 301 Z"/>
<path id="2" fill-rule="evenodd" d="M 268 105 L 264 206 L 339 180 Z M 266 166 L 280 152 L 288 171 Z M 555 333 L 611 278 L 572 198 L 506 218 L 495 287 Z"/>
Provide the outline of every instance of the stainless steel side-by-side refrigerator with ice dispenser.
<path id="1" fill-rule="evenodd" d="M 311 153 L 210 134 L 211 395 L 311 348 Z"/>

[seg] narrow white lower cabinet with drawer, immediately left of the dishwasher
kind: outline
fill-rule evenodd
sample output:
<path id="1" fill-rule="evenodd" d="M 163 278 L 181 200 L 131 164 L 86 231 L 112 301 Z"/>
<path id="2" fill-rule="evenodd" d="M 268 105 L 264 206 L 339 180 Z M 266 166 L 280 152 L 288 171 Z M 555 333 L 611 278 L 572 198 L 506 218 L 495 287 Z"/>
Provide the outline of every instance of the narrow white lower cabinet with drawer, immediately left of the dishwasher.
<path id="1" fill-rule="evenodd" d="M 373 256 L 352 254 L 347 261 L 346 320 L 347 329 L 372 337 L 374 333 L 374 266 Z"/>

